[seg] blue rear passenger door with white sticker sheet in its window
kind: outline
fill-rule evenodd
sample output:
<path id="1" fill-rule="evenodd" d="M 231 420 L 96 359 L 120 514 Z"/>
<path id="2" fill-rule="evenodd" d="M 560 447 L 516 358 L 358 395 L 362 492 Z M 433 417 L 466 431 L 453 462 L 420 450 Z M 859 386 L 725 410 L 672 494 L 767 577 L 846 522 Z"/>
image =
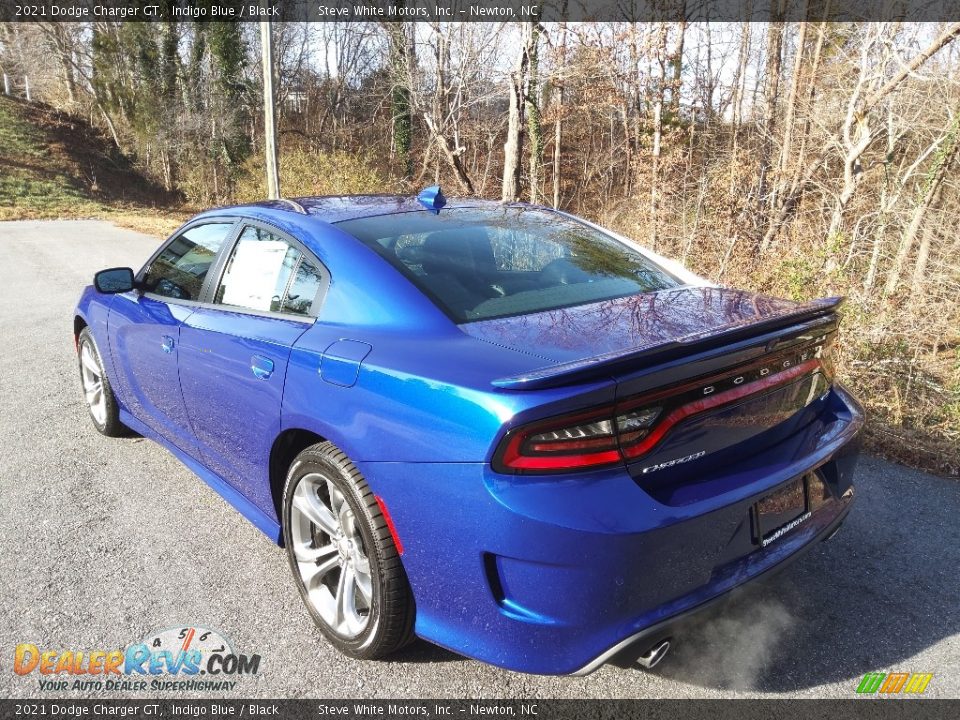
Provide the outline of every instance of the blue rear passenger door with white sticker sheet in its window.
<path id="1" fill-rule="evenodd" d="M 299 242 L 245 222 L 210 300 L 180 331 L 180 387 L 207 466 L 272 507 L 270 448 L 290 350 L 313 324 L 326 273 Z"/>

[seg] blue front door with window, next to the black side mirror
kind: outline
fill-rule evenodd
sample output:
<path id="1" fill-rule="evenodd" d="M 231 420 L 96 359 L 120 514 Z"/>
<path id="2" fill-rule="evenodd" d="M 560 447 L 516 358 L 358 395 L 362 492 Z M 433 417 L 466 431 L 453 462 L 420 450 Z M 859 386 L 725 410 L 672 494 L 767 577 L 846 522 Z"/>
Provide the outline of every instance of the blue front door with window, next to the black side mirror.
<path id="1" fill-rule="evenodd" d="M 110 346 L 124 405 L 188 452 L 195 442 L 177 377 L 180 329 L 199 306 L 234 225 L 207 221 L 178 232 L 140 271 L 140 289 L 118 295 L 110 309 Z"/>

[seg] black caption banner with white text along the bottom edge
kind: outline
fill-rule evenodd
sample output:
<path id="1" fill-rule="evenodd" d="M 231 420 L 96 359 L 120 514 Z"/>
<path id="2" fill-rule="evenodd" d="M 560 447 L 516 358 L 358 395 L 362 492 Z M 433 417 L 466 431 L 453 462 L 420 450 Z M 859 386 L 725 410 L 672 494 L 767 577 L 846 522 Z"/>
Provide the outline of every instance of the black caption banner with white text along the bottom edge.
<path id="1" fill-rule="evenodd" d="M 956 718 L 960 700 L 0 700 L 2 718 Z"/>

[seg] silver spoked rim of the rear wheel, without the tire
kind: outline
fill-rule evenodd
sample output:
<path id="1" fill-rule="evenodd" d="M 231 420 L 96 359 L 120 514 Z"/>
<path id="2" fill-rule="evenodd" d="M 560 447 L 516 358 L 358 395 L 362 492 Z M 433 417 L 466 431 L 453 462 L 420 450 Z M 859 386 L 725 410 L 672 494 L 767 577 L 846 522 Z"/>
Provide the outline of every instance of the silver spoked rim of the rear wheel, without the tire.
<path id="1" fill-rule="evenodd" d="M 310 605 L 330 629 L 357 637 L 370 622 L 373 579 L 357 518 L 320 473 L 305 475 L 290 509 L 292 552 Z"/>

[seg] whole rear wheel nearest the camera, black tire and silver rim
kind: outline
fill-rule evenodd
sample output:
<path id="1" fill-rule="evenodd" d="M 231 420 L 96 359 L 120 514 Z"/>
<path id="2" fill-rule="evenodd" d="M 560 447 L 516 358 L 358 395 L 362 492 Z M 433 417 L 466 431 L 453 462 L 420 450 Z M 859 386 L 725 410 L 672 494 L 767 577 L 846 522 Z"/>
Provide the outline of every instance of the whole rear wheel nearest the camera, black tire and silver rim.
<path id="1" fill-rule="evenodd" d="M 313 445 L 293 461 L 283 515 L 300 596 L 333 645 L 372 660 L 413 639 L 413 595 L 386 520 L 335 445 Z"/>

